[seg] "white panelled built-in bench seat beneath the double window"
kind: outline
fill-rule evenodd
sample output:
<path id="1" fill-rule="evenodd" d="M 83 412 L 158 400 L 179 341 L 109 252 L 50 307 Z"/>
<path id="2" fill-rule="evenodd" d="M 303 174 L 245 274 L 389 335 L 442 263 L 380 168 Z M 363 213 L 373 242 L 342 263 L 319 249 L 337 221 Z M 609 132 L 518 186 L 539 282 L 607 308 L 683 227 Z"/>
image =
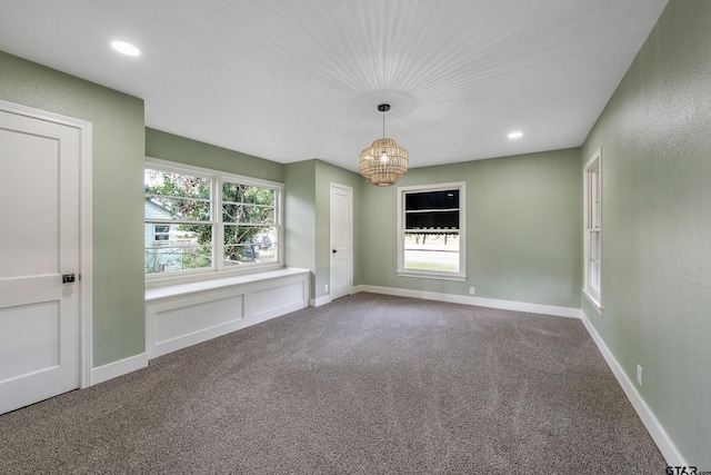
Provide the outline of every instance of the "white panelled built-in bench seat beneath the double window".
<path id="1" fill-rule="evenodd" d="M 307 307 L 309 276 L 284 268 L 147 289 L 149 359 Z"/>

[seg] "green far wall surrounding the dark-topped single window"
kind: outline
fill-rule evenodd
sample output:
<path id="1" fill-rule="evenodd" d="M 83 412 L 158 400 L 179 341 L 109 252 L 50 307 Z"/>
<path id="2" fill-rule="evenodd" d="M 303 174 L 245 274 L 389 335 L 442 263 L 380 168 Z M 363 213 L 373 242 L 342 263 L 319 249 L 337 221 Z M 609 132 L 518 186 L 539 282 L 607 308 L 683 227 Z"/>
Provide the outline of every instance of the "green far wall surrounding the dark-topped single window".
<path id="1" fill-rule="evenodd" d="M 580 308 L 579 149 L 415 168 L 364 187 L 364 284 Z M 467 182 L 467 281 L 397 276 L 397 187 Z"/>

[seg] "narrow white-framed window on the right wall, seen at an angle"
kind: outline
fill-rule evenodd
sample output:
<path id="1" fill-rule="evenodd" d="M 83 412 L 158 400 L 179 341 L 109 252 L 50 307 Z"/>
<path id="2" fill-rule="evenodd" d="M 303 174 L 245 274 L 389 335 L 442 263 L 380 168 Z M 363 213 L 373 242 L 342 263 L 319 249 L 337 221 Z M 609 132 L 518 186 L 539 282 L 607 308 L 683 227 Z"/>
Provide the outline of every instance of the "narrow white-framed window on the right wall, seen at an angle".
<path id="1" fill-rule="evenodd" d="M 602 154 L 595 151 L 583 169 L 584 277 L 583 294 L 602 310 Z"/>

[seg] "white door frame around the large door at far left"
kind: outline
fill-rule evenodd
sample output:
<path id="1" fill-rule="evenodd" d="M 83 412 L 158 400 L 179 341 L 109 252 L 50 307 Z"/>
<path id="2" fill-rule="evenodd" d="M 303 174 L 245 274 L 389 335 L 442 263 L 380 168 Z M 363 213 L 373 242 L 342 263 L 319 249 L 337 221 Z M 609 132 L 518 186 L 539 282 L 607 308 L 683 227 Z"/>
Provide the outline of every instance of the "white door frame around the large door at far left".
<path id="1" fill-rule="evenodd" d="M 79 130 L 79 383 L 84 388 L 92 385 L 92 187 L 91 147 L 92 125 L 86 120 L 49 112 L 33 107 L 0 100 L 0 110 L 32 119 L 44 120 Z"/>

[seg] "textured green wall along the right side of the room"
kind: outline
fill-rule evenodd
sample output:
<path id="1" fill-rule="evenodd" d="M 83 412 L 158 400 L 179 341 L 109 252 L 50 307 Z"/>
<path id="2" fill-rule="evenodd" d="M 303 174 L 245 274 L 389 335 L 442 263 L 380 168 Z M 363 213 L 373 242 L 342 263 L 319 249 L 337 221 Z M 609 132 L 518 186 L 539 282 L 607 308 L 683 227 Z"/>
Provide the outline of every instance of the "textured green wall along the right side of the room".
<path id="1" fill-rule="evenodd" d="M 711 2 L 672 0 L 585 140 L 602 149 L 603 316 L 681 455 L 711 471 Z M 582 165 L 581 165 L 582 170 Z"/>

